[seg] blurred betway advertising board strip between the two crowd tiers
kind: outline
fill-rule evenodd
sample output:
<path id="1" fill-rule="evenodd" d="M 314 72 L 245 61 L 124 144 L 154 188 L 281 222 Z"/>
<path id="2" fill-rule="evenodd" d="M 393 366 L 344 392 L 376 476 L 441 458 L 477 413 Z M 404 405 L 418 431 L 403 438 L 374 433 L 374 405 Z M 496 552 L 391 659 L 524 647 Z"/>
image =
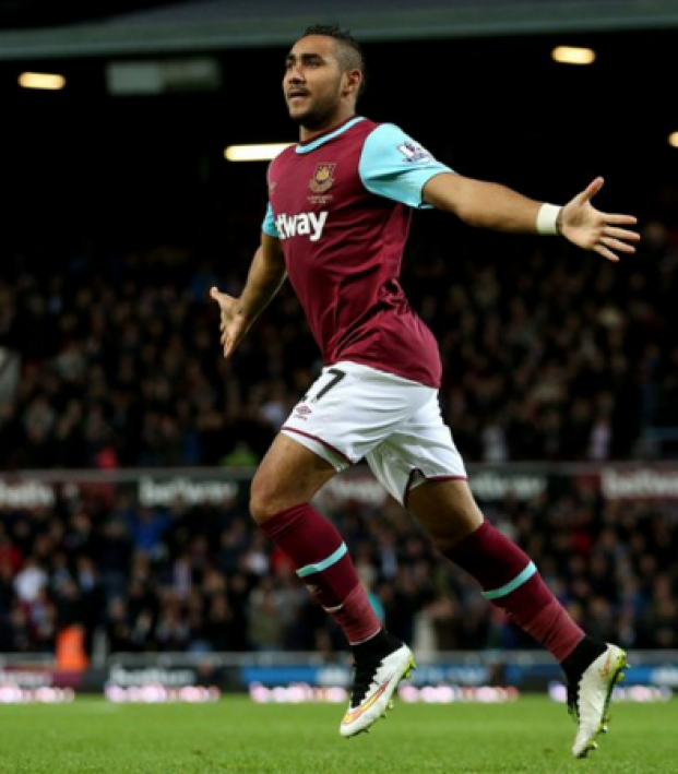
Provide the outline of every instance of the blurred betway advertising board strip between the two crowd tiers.
<path id="1" fill-rule="evenodd" d="M 157 471 L 26 471 L 0 473 L 0 510 L 52 508 L 58 499 L 115 501 L 119 495 L 140 505 L 174 508 L 229 505 L 247 498 L 253 471 L 180 468 Z M 527 502 L 544 493 L 587 488 L 607 500 L 678 500 L 678 463 L 469 465 L 468 484 L 481 502 L 505 498 Z M 319 503 L 357 501 L 383 505 L 389 495 L 367 465 L 359 464 L 329 481 Z"/>

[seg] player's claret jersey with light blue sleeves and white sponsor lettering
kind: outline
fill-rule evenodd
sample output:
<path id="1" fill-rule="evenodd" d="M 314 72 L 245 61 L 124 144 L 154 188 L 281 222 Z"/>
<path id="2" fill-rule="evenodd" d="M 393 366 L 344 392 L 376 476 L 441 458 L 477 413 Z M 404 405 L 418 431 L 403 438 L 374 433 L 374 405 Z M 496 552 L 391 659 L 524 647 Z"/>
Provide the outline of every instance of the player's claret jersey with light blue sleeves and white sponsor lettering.
<path id="1" fill-rule="evenodd" d="M 269 166 L 265 234 L 325 366 L 371 366 L 439 386 L 433 334 L 400 285 L 413 207 L 433 175 L 452 171 L 392 123 L 355 117 L 283 151 Z"/>

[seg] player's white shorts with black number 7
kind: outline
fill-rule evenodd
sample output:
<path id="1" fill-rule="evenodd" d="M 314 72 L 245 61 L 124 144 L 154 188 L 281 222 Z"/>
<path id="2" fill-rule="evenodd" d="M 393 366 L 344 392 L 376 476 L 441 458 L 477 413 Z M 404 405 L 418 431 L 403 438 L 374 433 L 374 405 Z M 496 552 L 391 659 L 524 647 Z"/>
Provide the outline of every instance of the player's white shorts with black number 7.
<path id="1" fill-rule="evenodd" d="M 323 368 L 282 432 L 340 472 L 365 459 L 401 504 L 427 479 L 467 477 L 438 391 L 356 362 Z"/>

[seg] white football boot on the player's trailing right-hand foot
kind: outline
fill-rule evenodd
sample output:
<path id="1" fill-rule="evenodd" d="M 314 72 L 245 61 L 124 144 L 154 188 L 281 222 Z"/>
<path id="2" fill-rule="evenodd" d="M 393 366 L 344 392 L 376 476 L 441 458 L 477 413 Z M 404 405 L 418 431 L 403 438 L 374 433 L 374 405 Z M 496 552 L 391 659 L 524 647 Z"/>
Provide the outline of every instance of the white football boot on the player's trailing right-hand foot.
<path id="1" fill-rule="evenodd" d="M 607 648 L 568 686 L 568 705 L 576 718 L 576 737 L 572 745 L 574 758 L 586 758 L 597 748 L 596 737 L 607 731 L 609 702 L 612 690 L 623 679 L 627 654 L 617 645 Z"/>

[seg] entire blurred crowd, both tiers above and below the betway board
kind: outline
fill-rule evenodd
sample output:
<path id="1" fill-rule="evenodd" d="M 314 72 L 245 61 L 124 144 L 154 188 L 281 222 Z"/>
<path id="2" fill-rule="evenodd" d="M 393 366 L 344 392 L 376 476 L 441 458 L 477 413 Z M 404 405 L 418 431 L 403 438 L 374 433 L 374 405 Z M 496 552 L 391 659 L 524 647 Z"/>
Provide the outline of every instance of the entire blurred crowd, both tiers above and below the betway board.
<path id="1" fill-rule="evenodd" d="M 675 455 L 675 224 L 644 223 L 639 255 L 619 264 L 555 238 L 455 242 L 451 230 L 437 213 L 415 221 L 402 284 L 438 336 L 442 410 L 466 461 Z M 227 258 L 174 243 L 3 257 L 0 471 L 257 465 L 320 362 L 289 287 L 223 359 L 209 288 L 237 295 L 250 259 L 237 242 Z M 331 515 L 399 636 L 432 650 L 531 646 L 395 503 Z M 590 632 L 678 647 L 678 522 L 666 503 L 574 491 L 489 503 L 487 515 Z M 344 646 L 254 528 L 246 496 L 0 505 L 0 651 L 50 652 L 72 622 L 90 651 Z"/>

